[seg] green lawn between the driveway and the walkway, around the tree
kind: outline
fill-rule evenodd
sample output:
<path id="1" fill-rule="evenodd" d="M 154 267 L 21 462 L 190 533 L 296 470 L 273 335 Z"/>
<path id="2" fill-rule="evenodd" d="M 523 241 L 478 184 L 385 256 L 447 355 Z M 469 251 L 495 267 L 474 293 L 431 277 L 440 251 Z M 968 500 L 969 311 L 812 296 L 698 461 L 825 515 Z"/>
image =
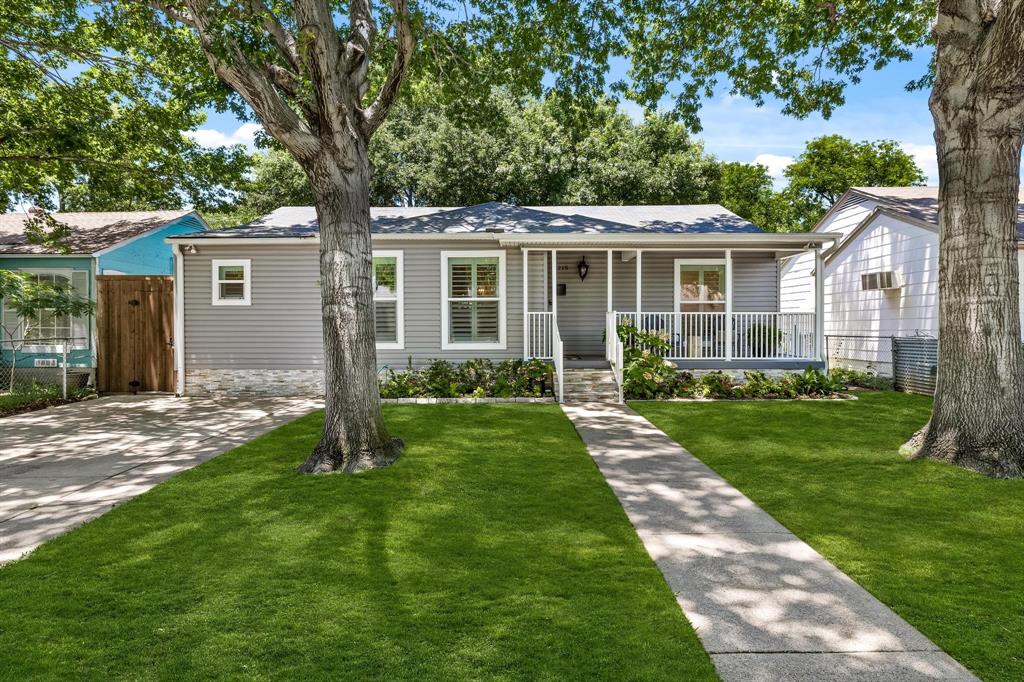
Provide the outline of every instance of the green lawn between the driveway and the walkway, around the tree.
<path id="1" fill-rule="evenodd" d="M 391 468 L 294 474 L 311 415 L 0 568 L 0 678 L 714 678 L 556 406 L 386 417 Z"/>

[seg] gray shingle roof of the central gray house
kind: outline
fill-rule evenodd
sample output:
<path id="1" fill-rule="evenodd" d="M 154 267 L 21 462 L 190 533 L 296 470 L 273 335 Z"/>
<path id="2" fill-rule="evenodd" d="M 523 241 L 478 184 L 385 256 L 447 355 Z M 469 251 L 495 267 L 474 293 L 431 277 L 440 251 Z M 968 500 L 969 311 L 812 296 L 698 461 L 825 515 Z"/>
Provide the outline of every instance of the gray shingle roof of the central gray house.
<path id="1" fill-rule="evenodd" d="M 717 204 L 522 207 L 492 202 L 464 208 L 374 208 L 371 220 L 371 229 L 377 235 L 757 235 L 762 231 Z M 248 225 L 213 230 L 202 237 L 312 237 L 317 230 L 312 207 L 285 207 Z"/>

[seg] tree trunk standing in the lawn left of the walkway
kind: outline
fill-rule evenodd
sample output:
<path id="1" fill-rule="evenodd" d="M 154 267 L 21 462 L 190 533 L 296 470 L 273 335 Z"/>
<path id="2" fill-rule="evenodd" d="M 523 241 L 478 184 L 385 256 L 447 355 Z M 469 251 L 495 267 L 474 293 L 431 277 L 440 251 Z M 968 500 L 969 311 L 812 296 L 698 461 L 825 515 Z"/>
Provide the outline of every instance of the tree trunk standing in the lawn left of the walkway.
<path id="1" fill-rule="evenodd" d="M 353 143 L 340 160 L 318 156 L 306 169 L 321 230 L 324 307 L 324 434 L 299 471 L 348 473 L 394 462 L 401 441 L 388 435 L 377 386 L 370 162 Z M 348 151 L 346 151 L 348 152 Z"/>

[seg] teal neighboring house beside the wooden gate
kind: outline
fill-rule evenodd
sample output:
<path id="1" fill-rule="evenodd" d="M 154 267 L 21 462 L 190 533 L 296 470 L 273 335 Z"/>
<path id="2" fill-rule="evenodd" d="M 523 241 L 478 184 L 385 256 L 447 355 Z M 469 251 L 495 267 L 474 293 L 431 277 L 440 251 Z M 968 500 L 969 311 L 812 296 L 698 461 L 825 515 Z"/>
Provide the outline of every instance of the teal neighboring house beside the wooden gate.
<path id="1" fill-rule="evenodd" d="M 53 213 L 71 228 L 67 253 L 30 244 L 25 235 L 25 213 L 0 214 L 0 268 L 31 272 L 46 282 L 71 284 L 95 300 L 97 274 L 173 274 L 169 237 L 209 228 L 195 211 L 126 211 Z M 0 306 L 0 365 L 16 358 L 18 374 L 45 378 L 56 374 L 63 343 L 68 367 L 94 377 L 96 368 L 95 321 L 92 316 L 69 318 L 43 310 L 33 319 L 22 319 L 6 305 Z M 12 353 L 12 349 L 16 352 Z M 31 369 L 31 371 L 30 371 Z"/>

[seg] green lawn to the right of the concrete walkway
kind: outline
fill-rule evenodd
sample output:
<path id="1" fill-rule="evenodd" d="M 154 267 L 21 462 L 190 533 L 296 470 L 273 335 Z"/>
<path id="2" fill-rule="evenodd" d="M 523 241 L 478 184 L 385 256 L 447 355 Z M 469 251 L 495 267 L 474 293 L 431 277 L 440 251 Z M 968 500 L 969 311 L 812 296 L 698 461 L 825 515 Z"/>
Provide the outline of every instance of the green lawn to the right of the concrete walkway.
<path id="1" fill-rule="evenodd" d="M 930 398 L 631 404 L 977 675 L 1024 679 L 1024 481 L 902 459 Z"/>

